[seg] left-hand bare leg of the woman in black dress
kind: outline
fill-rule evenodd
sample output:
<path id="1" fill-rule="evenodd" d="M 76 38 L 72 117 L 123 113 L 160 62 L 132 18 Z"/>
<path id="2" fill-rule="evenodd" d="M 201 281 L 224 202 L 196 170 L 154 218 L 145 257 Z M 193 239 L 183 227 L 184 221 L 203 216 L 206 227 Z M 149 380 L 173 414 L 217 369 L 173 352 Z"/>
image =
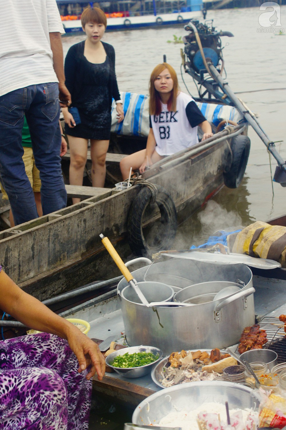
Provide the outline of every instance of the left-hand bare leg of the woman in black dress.
<path id="1" fill-rule="evenodd" d="M 70 184 L 82 185 L 87 159 L 87 139 L 68 135 L 68 144 L 71 152 Z M 80 199 L 73 198 L 73 203 L 80 203 Z"/>

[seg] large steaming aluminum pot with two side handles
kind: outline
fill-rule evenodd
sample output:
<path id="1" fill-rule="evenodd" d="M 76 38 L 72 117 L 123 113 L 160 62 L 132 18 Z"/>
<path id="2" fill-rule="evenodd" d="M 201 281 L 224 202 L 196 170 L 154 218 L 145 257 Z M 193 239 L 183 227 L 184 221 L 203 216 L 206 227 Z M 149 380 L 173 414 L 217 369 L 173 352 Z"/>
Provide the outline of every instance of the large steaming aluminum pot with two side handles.
<path id="1" fill-rule="evenodd" d="M 174 259 L 175 260 L 175 259 Z M 236 283 L 239 279 L 246 286 L 237 295 L 220 301 L 185 307 L 130 306 L 121 291 L 127 281 L 122 279 L 117 287 L 126 340 L 130 346 L 154 345 L 167 355 L 172 351 L 195 348 L 225 348 L 236 344 L 246 326 L 255 323 L 252 272 L 244 264 L 213 264 L 192 260 L 169 260 L 156 264 L 158 273 L 172 269 L 174 275 L 195 282 L 214 280 Z M 161 265 L 161 266 L 160 266 Z M 140 282 L 148 267 L 132 272 Z M 224 287 L 222 287 L 224 288 Z"/>

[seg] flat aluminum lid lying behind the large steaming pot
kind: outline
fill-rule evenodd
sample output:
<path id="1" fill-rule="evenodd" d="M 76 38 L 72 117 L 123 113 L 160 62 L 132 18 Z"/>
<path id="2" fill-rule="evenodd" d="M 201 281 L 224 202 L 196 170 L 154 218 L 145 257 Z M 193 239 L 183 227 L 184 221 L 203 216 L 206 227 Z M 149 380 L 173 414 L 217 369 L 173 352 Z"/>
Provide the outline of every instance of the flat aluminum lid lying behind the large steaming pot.
<path id="1" fill-rule="evenodd" d="M 173 258 L 187 258 L 191 260 L 206 261 L 209 263 L 219 264 L 238 264 L 243 263 L 250 267 L 256 267 L 257 269 L 275 269 L 281 267 L 278 261 L 268 260 L 267 258 L 255 258 L 245 254 L 235 254 L 230 252 L 229 254 L 221 254 L 220 252 L 202 252 L 202 251 L 187 251 L 178 253 L 169 253 L 168 257 Z"/>

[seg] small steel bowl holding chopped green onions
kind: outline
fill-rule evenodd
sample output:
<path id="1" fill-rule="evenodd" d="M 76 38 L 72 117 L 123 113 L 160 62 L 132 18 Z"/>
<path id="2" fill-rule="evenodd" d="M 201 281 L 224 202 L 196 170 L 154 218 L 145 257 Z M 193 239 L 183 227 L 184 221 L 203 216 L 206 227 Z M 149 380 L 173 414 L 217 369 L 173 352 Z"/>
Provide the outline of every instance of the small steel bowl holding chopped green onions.
<path id="1" fill-rule="evenodd" d="M 126 353 L 133 354 L 136 352 L 151 352 L 154 354 L 154 356 L 158 356 L 158 358 L 150 364 L 146 364 L 145 366 L 140 367 L 128 367 L 128 368 L 121 368 L 121 367 L 114 367 L 110 363 L 113 362 L 115 357 L 118 355 L 124 355 Z M 148 375 L 148 373 L 151 372 L 151 369 L 155 363 L 157 363 L 162 357 L 162 351 L 159 348 L 155 347 L 148 347 L 148 346 L 138 346 L 138 347 L 129 347 L 129 348 L 122 348 L 118 351 L 113 352 L 112 354 L 109 354 L 105 362 L 106 364 L 115 370 L 115 372 L 119 373 L 119 375 L 124 376 L 124 378 L 141 378 L 141 376 Z"/>

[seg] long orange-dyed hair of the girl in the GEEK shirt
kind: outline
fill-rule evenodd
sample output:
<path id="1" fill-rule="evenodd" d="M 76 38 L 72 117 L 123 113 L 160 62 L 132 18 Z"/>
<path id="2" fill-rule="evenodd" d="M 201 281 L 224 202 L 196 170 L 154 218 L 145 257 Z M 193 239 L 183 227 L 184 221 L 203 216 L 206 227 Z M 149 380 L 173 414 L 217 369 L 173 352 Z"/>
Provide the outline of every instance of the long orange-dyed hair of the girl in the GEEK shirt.
<path id="1" fill-rule="evenodd" d="M 158 75 L 160 75 L 163 70 L 168 69 L 169 74 L 173 80 L 173 89 L 171 95 L 169 97 L 167 107 L 168 111 L 175 112 L 176 111 L 176 101 L 178 95 L 178 77 L 175 70 L 168 63 L 158 64 L 151 73 L 150 82 L 149 82 L 149 93 L 150 93 L 150 101 L 149 101 L 149 113 L 150 115 L 159 115 L 161 113 L 161 99 L 160 93 L 155 89 L 154 82 Z"/>

